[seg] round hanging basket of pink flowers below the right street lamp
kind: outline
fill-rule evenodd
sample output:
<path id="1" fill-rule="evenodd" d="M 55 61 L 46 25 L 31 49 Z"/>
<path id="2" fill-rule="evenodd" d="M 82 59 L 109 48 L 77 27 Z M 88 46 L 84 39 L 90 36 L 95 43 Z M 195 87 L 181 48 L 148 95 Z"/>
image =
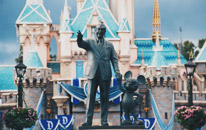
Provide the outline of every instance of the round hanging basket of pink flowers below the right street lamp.
<path id="1" fill-rule="evenodd" d="M 199 106 L 181 106 L 175 111 L 178 123 L 186 129 L 201 128 L 206 123 L 206 112 Z"/>

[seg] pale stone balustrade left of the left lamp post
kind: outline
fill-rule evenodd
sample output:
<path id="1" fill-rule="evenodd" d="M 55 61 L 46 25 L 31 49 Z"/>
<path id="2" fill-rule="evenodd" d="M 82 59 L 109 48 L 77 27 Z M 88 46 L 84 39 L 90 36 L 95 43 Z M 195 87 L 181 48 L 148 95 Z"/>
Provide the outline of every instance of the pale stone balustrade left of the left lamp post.
<path id="1" fill-rule="evenodd" d="M 17 91 L 5 92 L 0 95 L 0 109 L 8 109 L 8 107 L 16 107 Z"/>

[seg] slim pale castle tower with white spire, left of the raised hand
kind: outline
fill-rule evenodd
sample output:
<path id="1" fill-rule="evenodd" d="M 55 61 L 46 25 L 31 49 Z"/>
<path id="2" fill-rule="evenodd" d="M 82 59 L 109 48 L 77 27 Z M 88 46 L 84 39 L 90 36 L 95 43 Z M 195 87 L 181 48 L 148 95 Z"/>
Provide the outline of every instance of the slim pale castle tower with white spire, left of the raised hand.
<path id="1" fill-rule="evenodd" d="M 71 54 L 71 36 L 73 35 L 71 21 L 70 21 L 70 13 L 68 10 L 67 0 L 65 0 L 64 11 L 62 14 L 62 21 L 60 24 L 60 42 L 61 42 L 61 77 L 69 77 L 71 72 L 67 72 L 68 65 L 72 61 Z"/>

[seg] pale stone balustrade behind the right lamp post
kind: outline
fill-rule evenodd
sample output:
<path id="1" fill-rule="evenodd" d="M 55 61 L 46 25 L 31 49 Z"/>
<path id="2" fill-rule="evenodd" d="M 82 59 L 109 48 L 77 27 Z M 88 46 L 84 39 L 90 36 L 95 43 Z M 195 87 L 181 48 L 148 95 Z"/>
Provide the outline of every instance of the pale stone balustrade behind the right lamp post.
<path id="1" fill-rule="evenodd" d="M 176 105 L 188 104 L 188 91 L 173 91 Z M 193 104 L 205 105 L 206 104 L 206 91 L 193 91 Z"/>

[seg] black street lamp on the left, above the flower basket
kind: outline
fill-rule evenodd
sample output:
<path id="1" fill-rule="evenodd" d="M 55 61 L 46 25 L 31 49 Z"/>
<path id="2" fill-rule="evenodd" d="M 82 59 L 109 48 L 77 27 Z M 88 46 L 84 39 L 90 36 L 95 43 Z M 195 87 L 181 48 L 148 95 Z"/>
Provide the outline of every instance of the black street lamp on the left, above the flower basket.
<path id="1" fill-rule="evenodd" d="M 23 86 L 22 86 L 22 79 L 24 77 L 24 74 L 26 72 L 26 66 L 23 64 L 22 57 L 20 57 L 19 64 L 15 66 L 17 77 L 19 78 L 19 84 L 18 84 L 18 107 L 23 107 L 23 100 L 22 100 L 22 92 L 23 92 Z"/>

